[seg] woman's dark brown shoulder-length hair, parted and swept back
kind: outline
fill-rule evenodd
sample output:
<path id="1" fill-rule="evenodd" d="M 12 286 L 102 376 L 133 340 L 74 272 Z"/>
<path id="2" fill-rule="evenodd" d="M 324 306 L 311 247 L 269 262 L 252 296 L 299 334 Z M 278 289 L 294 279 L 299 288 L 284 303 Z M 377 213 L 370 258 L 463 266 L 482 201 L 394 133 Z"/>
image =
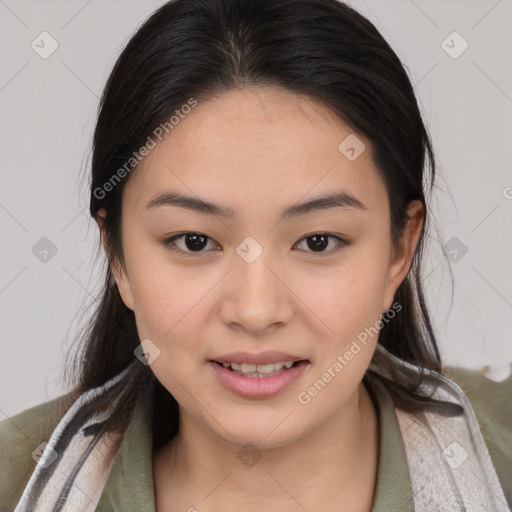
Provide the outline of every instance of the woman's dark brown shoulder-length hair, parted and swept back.
<path id="1" fill-rule="evenodd" d="M 176 434 L 178 404 L 135 357 L 140 340 L 134 314 L 111 272 L 110 265 L 124 262 L 121 201 L 136 165 L 119 170 L 126 171 L 134 152 L 191 98 L 200 103 L 246 85 L 281 86 L 322 101 L 371 142 L 391 198 L 393 243 L 403 232 L 408 204 L 423 203 L 425 222 L 413 263 L 395 295 L 402 310 L 379 333 L 389 353 L 421 371 L 411 372 L 376 351 L 372 362 L 386 367 L 390 377 L 368 369 L 364 379 L 384 382 L 398 407 L 439 410 L 441 403 L 420 389 L 423 370 L 441 372 L 420 276 L 429 224 L 425 191 L 431 192 L 435 178 L 431 142 L 400 59 L 370 21 L 336 0 L 173 0 L 129 40 L 103 91 L 94 132 L 90 214 L 97 219 L 100 209 L 106 211 L 109 264 L 96 311 L 69 366 L 70 396 L 101 386 L 130 366 L 111 390 L 123 400 L 105 428 L 124 428 L 140 391 L 152 384 L 154 447 Z"/>

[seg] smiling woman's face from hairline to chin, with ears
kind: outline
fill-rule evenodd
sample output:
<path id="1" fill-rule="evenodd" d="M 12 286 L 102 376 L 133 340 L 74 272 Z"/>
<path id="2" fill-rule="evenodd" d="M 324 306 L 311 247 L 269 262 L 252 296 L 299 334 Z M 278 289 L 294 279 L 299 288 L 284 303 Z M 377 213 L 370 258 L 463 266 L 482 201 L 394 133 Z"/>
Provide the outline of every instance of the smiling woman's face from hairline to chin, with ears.
<path id="1" fill-rule="evenodd" d="M 355 151 L 339 149 L 348 136 Z M 115 278 L 182 421 L 232 444 L 277 447 L 354 403 L 422 221 L 411 203 L 392 245 L 384 181 L 370 142 L 354 137 L 312 98 L 246 88 L 198 103 L 130 177 Z M 332 194 L 352 201 L 298 208 Z M 264 378 L 218 364 L 267 351 L 303 362 Z M 248 355 L 224 357 L 233 352 Z"/>

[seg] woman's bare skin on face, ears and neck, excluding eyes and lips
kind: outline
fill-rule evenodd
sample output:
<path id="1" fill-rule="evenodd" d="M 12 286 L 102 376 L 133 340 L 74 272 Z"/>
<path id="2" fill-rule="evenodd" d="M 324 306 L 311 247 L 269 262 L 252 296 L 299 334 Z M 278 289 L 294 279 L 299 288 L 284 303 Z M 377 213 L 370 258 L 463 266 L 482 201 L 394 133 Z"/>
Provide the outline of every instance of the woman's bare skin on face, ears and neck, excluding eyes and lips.
<path id="1" fill-rule="evenodd" d="M 358 135 L 366 149 L 354 161 L 338 150 L 351 133 L 312 98 L 246 87 L 200 102 L 130 177 L 125 265 L 113 270 L 140 339 L 160 350 L 151 369 L 180 405 L 178 436 L 154 454 L 158 511 L 371 510 L 378 417 L 361 379 L 377 336 L 310 403 L 297 399 L 392 306 L 423 222 L 414 201 L 404 236 L 392 245 L 370 142 Z M 169 190 L 236 214 L 146 208 Z M 335 190 L 366 209 L 277 220 L 285 207 Z M 98 222 L 101 228 L 101 216 Z M 208 237 L 202 253 L 184 237 L 175 240 L 181 254 L 163 244 L 183 232 Z M 315 252 L 306 237 L 318 233 L 349 245 L 332 238 Z M 263 249 L 252 263 L 236 252 L 248 236 Z M 244 398 L 208 364 L 235 350 L 281 350 L 310 363 L 277 395 Z M 256 464 L 242 461 L 247 443 L 256 447 Z"/>

